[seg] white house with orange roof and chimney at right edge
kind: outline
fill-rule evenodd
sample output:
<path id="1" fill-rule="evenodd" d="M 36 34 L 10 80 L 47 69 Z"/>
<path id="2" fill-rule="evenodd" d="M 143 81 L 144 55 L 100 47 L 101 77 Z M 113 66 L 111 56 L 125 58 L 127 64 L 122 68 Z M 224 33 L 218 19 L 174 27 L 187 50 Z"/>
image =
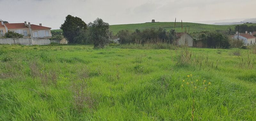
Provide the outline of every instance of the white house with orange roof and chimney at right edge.
<path id="1" fill-rule="evenodd" d="M 243 40 L 245 45 L 256 44 L 256 37 L 253 36 L 251 32 L 247 33 L 247 31 L 245 31 L 245 34 L 236 32 L 236 34 L 232 36 L 233 39 L 237 39 L 237 37 L 238 39 Z"/>

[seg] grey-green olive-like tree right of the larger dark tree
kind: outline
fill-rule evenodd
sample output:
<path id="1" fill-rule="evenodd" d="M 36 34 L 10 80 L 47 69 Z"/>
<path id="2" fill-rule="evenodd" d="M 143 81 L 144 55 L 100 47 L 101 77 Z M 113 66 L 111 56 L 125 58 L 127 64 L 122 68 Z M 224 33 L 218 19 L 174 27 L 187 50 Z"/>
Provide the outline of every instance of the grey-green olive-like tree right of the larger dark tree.
<path id="1" fill-rule="evenodd" d="M 109 38 L 112 35 L 112 32 L 109 31 L 109 24 L 97 18 L 93 23 L 90 22 L 88 26 L 94 47 L 103 48 L 109 42 Z"/>

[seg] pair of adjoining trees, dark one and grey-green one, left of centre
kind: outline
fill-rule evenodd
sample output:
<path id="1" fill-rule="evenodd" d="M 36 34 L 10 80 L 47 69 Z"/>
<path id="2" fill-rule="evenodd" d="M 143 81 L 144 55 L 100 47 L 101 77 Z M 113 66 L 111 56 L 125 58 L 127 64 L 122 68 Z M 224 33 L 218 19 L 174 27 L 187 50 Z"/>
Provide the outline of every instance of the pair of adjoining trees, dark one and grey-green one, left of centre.
<path id="1" fill-rule="evenodd" d="M 109 24 L 99 18 L 87 25 L 82 19 L 68 15 L 60 29 L 69 44 L 93 43 L 96 48 L 104 47 L 112 35 Z"/>

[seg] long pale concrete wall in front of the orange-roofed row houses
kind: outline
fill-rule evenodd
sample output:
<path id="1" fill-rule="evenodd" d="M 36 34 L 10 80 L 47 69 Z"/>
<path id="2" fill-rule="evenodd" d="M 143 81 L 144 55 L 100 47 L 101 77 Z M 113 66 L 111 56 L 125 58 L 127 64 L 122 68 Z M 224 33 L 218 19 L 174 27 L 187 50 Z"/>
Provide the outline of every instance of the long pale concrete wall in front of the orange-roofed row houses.
<path id="1" fill-rule="evenodd" d="M 49 39 L 31 39 L 31 38 L 3 38 L 0 44 L 21 44 L 21 45 L 48 45 L 51 44 Z"/>

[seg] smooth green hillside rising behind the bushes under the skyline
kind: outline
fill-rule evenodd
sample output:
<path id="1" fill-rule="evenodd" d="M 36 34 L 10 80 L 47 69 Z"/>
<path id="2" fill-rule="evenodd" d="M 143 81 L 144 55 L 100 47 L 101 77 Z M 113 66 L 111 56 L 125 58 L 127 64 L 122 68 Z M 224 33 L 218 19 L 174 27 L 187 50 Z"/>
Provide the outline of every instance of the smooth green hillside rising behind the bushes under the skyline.
<path id="1" fill-rule="evenodd" d="M 202 31 L 202 30 L 221 30 L 221 31 L 229 31 L 229 28 L 232 28 L 232 30 L 235 29 L 236 25 L 209 25 L 209 24 L 198 24 L 198 23 L 188 23 L 183 22 L 183 31 L 185 31 L 185 28 L 189 28 L 190 32 L 196 32 L 196 31 Z M 247 24 L 248 26 L 256 26 L 256 24 Z M 146 28 L 165 28 L 166 30 L 174 29 L 174 22 L 156 22 L 156 23 L 141 23 L 141 24 L 123 24 L 123 25 L 110 25 L 110 31 L 113 32 L 114 35 L 117 34 L 118 31 L 124 29 L 124 30 L 135 30 L 135 29 L 146 29 Z M 176 28 L 175 30 L 177 32 L 181 31 L 181 22 L 176 22 Z M 52 31 L 61 31 L 58 30 L 52 30 Z"/>

